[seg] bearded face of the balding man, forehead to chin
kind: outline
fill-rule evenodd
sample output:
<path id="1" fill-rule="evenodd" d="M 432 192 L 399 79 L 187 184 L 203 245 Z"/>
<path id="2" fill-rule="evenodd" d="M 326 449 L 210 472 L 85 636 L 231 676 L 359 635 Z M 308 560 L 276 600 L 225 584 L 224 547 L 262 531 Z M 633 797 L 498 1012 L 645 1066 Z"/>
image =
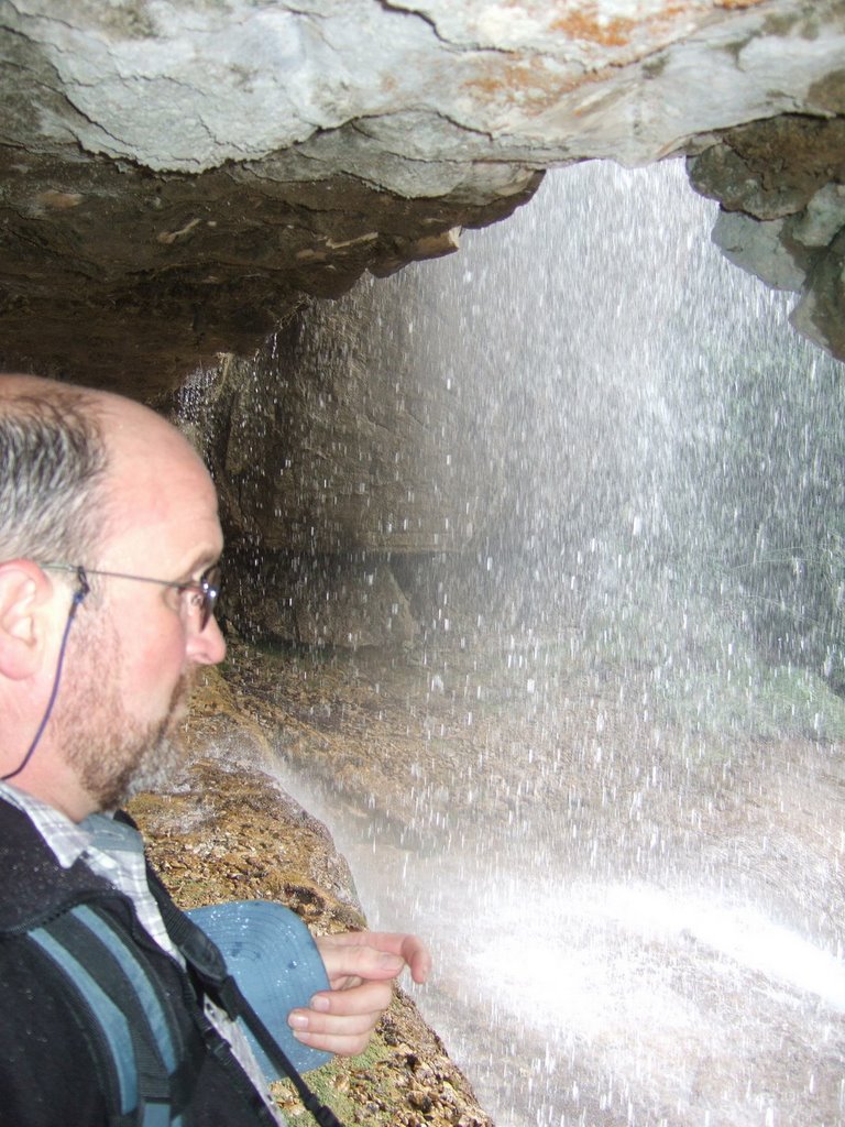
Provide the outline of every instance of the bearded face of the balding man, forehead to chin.
<path id="1" fill-rule="evenodd" d="M 135 405 L 122 406 L 119 416 L 108 531 L 96 560 L 80 562 L 196 580 L 222 550 L 211 479 L 161 419 Z M 172 588 L 95 576 L 91 584 L 71 629 L 53 730 L 86 792 L 109 809 L 132 791 L 172 779 L 172 736 L 197 666 L 220 662 L 225 645 L 214 619 L 198 630 L 185 596 Z"/>

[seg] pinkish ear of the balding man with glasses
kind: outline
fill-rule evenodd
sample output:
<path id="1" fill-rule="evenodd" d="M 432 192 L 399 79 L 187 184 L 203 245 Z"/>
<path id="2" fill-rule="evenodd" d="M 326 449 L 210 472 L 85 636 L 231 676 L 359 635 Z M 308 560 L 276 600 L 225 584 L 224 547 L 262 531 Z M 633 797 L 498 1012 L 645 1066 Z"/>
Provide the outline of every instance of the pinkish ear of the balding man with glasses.
<path id="1" fill-rule="evenodd" d="M 0 676 L 20 681 L 37 672 L 53 620 L 54 591 L 32 560 L 0 564 Z"/>

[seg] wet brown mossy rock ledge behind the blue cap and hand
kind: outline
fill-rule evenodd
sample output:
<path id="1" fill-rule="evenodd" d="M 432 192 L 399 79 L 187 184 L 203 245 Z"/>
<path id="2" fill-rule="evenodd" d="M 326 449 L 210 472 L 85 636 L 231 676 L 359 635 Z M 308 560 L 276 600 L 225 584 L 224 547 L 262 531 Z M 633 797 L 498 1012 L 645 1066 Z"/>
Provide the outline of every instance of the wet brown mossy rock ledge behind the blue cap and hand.
<path id="1" fill-rule="evenodd" d="M 318 934 L 365 928 L 349 869 L 328 831 L 273 778 L 266 728 L 215 673 L 197 693 L 185 738 L 188 758 L 174 790 L 131 804 L 177 903 L 190 908 L 273 899 Z M 309 1081 L 346 1124 L 492 1122 L 401 987 L 366 1054 L 338 1058 Z M 288 1120 L 305 1116 L 288 1085 L 278 1084 L 275 1094 Z"/>

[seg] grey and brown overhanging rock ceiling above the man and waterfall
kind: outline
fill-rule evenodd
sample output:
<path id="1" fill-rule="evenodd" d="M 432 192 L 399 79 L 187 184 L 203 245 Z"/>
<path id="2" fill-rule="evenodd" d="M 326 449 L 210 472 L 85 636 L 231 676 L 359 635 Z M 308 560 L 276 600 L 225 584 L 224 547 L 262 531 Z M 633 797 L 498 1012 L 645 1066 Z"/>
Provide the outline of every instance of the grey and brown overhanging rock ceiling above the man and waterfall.
<path id="1" fill-rule="evenodd" d="M 843 0 L 0 0 L 0 56 L 7 366 L 158 401 L 544 168 L 679 153 L 843 355 Z"/>

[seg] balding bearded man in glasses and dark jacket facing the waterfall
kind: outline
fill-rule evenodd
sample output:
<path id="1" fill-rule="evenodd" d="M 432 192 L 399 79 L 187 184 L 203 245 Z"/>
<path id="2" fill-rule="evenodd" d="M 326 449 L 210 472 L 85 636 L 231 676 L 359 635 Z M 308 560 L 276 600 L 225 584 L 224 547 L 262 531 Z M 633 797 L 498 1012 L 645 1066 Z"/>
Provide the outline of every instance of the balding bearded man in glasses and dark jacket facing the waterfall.
<path id="1" fill-rule="evenodd" d="M 116 1121 L 80 1015 L 107 987 L 71 984 L 71 1004 L 45 955 L 71 909 L 134 944 L 172 1003 L 178 1084 L 161 1121 L 279 1121 L 240 1029 L 185 970 L 136 831 L 110 817 L 171 777 L 192 680 L 225 653 L 211 478 L 153 411 L 34 376 L 0 376 L 0 1125 Z M 29 938 L 45 928 L 42 950 Z M 290 1026 L 303 1046 L 357 1054 L 392 979 L 408 966 L 424 982 L 428 952 L 411 935 L 315 942 L 331 988 Z"/>

